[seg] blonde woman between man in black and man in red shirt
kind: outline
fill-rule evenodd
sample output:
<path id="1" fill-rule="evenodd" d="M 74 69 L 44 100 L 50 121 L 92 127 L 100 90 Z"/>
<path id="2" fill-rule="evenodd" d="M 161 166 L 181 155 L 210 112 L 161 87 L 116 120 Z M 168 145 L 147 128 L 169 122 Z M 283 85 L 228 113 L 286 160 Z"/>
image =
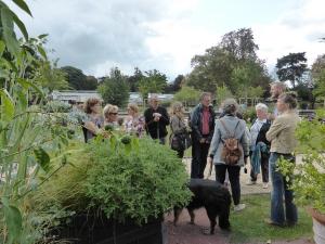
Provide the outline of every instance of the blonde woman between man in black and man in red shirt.
<path id="1" fill-rule="evenodd" d="M 183 134 L 183 133 L 187 133 L 186 125 L 185 125 L 185 121 L 184 121 L 183 104 L 181 102 L 174 102 L 171 105 L 170 128 L 171 128 L 171 132 L 172 132 L 170 141 L 172 141 L 172 139 L 174 137 L 178 137 L 178 136 Z M 185 149 L 177 150 L 178 156 L 180 158 L 183 158 L 184 150 Z"/>

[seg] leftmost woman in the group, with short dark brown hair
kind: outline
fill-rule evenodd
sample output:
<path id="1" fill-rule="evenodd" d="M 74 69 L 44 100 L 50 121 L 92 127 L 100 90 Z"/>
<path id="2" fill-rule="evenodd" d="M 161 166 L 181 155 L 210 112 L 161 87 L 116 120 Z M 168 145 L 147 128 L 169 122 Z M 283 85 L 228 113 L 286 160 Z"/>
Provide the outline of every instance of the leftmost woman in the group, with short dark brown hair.
<path id="1" fill-rule="evenodd" d="M 104 124 L 104 118 L 101 112 L 102 104 L 99 99 L 92 98 L 86 101 L 84 113 L 87 114 L 87 118 L 83 120 L 82 127 L 84 142 L 88 142 L 101 132 L 101 128 Z"/>

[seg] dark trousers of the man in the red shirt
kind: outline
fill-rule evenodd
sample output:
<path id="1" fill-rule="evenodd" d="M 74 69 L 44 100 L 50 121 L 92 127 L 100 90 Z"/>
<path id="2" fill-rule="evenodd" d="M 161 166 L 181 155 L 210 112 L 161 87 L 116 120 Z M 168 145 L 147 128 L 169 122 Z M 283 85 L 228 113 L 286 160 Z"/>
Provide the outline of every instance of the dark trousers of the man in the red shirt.
<path id="1" fill-rule="evenodd" d="M 199 143 L 193 140 L 191 178 L 204 178 L 210 143 Z"/>

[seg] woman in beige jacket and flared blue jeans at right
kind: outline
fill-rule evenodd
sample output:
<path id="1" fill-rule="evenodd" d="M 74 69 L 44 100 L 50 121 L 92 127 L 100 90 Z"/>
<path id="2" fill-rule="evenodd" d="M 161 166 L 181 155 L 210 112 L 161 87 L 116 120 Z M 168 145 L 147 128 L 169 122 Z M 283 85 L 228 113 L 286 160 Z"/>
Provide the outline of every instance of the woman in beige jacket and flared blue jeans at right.
<path id="1" fill-rule="evenodd" d="M 294 204 L 294 192 L 289 189 L 289 182 L 277 171 L 281 157 L 295 163 L 292 154 L 296 146 L 295 130 L 299 121 L 296 112 L 297 99 L 295 93 L 283 93 L 278 97 L 276 108 L 280 115 L 266 132 L 266 139 L 271 141 L 270 176 L 273 190 L 271 192 L 271 219 L 266 222 L 273 226 L 294 226 L 297 223 L 297 207 Z M 291 179 L 290 179 L 291 180 Z M 285 198 L 285 210 L 283 204 Z"/>

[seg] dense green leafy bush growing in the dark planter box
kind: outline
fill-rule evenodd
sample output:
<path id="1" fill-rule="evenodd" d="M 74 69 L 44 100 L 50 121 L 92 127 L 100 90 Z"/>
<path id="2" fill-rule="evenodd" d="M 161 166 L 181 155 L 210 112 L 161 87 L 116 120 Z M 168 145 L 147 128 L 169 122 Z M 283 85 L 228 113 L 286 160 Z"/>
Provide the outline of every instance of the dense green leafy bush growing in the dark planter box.
<path id="1" fill-rule="evenodd" d="M 173 151 L 151 139 L 134 140 L 131 151 L 119 140 L 91 144 L 93 165 L 84 182 L 93 207 L 141 223 L 186 204 L 191 194 L 185 167 Z"/>

